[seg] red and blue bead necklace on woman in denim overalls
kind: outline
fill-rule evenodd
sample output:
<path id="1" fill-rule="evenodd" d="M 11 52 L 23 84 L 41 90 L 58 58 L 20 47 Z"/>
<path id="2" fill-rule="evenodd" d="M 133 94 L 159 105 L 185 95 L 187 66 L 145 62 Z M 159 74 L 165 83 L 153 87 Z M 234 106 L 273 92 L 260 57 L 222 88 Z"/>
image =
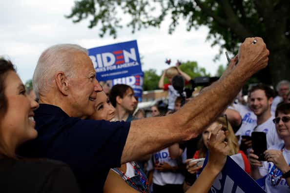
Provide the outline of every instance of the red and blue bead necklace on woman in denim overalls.
<path id="1" fill-rule="evenodd" d="M 119 168 L 117 168 L 117 170 L 119 172 L 121 172 L 121 174 L 126 178 L 126 180 L 135 187 L 136 190 L 138 190 L 140 193 L 149 193 L 149 183 L 147 178 L 145 178 L 144 174 L 142 174 L 142 172 L 140 171 L 140 167 L 134 162 L 134 165 L 132 164 L 132 162 L 130 162 L 131 166 L 134 169 L 135 175 L 139 175 L 140 176 L 140 180 L 142 182 L 143 185 L 145 185 L 144 190 L 141 190 L 139 186 L 136 185 L 136 183 L 134 183 L 131 178 L 129 178 L 122 170 L 120 170 Z"/>

